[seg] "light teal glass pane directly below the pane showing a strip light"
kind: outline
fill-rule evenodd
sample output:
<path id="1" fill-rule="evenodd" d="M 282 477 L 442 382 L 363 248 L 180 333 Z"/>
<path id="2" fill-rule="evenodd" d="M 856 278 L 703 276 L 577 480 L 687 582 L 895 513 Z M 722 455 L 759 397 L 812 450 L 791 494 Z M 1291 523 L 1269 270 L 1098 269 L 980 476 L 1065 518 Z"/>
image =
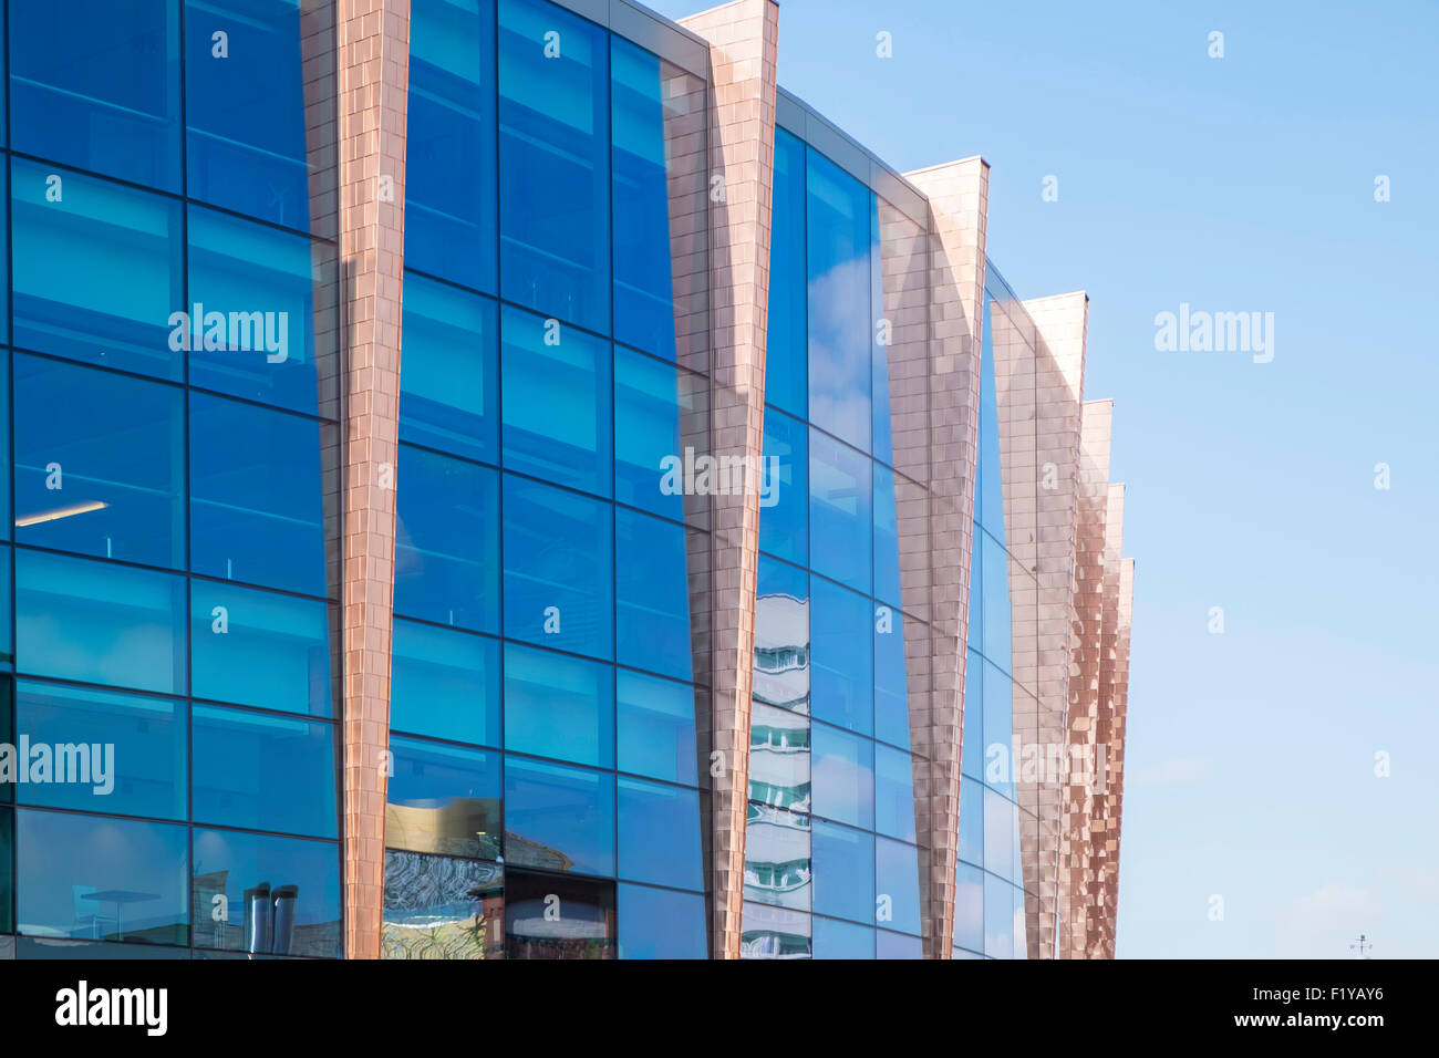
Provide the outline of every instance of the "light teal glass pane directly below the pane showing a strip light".
<path id="1" fill-rule="evenodd" d="M 184 694 L 184 577 L 17 550 L 16 668 Z"/>

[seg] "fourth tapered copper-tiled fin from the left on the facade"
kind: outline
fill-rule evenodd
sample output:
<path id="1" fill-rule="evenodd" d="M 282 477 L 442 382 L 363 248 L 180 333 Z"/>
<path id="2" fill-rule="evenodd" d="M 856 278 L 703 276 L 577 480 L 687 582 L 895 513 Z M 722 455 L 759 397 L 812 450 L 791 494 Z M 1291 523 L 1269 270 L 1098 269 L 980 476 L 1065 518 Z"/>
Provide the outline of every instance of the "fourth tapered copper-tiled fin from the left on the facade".
<path id="1" fill-rule="evenodd" d="M 1012 554 L 1014 736 L 1042 750 L 1065 744 L 1088 305 L 1081 291 L 996 304 L 990 318 Z M 1030 959 L 1053 959 L 1061 782 L 1049 769 L 1025 774 L 1016 774 L 1025 934 Z"/>

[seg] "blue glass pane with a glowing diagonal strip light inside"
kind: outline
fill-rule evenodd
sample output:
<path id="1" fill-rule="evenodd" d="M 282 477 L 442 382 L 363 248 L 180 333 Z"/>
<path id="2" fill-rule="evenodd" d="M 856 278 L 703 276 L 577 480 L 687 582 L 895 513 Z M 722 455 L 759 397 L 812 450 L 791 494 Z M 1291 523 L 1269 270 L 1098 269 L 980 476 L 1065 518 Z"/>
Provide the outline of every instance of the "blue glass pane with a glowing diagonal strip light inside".
<path id="1" fill-rule="evenodd" d="M 184 394 L 58 360 L 14 357 L 16 540 L 184 564 Z"/>

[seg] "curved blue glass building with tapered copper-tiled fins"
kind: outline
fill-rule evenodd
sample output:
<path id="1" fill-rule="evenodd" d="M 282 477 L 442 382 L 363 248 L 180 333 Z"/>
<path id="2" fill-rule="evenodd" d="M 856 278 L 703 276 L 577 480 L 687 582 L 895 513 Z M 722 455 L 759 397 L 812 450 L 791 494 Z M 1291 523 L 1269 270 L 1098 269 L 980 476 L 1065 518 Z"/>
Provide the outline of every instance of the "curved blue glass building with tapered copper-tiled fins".
<path id="1" fill-rule="evenodd" d="M 1112 954 L 1109 404 L 981 158 L 773 0 L 4 29 L 0 957 Z"/>

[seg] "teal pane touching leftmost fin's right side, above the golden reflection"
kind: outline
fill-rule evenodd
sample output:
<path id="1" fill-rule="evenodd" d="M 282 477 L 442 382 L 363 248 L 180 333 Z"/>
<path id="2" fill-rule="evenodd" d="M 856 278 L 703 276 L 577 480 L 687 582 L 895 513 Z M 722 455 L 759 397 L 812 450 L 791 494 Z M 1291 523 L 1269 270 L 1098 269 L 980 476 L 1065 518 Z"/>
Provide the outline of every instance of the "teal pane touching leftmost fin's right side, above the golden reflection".
<path id="1" fill-rule="evenodd" d="M 499 643 L 396 618 L 390 730 L 499 744 Z"/>

